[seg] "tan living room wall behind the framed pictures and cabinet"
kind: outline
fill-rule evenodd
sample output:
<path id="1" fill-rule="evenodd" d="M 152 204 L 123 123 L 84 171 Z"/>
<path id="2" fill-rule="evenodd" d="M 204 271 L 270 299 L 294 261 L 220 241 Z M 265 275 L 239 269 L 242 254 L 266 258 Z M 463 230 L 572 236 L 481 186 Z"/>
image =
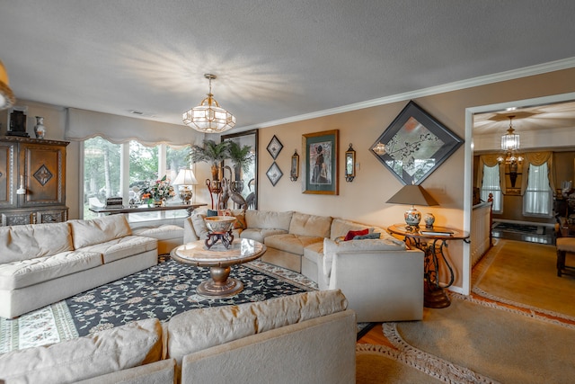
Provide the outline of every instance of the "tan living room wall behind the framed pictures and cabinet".
<path id="1" fill-rule="evenodd" d="M 421 108 L 429 112 L 447 128 L 461 138 L 465 137 L 465 109 L 494 103 L 505 103 L 553 94 L 575 92 L 575 68 L 564 69 L 537 76 L 527 76 L 515 80 L 475 86 L 463 90 L 433 94 L 415 98 Z M 353 219 L 366 224 L 387 227 L 403 221 L 406 206 L 387 204 L 387 201 L 401 187 L 400 183 L 376 156 L 368 152 L 376 138 L 394 120 L 409 100 L 388 103 L 353 112 L 339 113 L 306 121 L 263 128 L 260 131 L 259 156 L 259 207 L 261 210 L 299 210 L 307 213 L 330 215 Z M 63 107 L 18 101 L 18 105 L 28 105 L 28 131 L 32 132 L 31 118 L 45 116 L 48 133 L 46 138 L 65 139 L 66 112 Z M 238 117 L 239 119 L 239 117 Z M 7 121 L 6 113 L 0 112 L 0 121 Z M 31 124 L 31 125 L 30 125 Z M 339 195 L 316 195 L 302 193 L 302 178 L 297 182 L 289 180 L 291 155 L 294 150 L 300 155 L 303 164 L 302 135 L 323 130 L 340 130 L 340 171 Z M 5 127 L 2 129 L 5 134 Z M 283 177 L 276 186 L 269 182 L 266 171 L 273 159 L 266 151 L 270 139 L 276 135 L 283 144 L 276 162 Z M 346 183 L 343 176 L 342 159 L 345 150 L 353 144 L 357 151 L 357 176 L 352 183 Z M 421 184 L 439 203 L 438 207 L 419 207 L 421 212 L 432 212 L 438 226 L 464 227 L 464 146 L 450 156 L 433 174 Z M 208 166 L 197 165 L 198 180 L 208 178 Z M 70 207 L 70 219 L 79 217 L 79 196 L 82 185 L 72 183 L 80 180 L 79 144 L 72 142 L 67 148 L 66 158 L 66 205 Z M 208 192 L 202 184 L 196 187 L 197 201 L 209 202 Z M 471 193 L 470 193 L 471 195 Z M 449 245 L 449 257 L 455 265 L 456 282 L 454 287 L 461 290 L 464 270 L 463 242 Z"/>

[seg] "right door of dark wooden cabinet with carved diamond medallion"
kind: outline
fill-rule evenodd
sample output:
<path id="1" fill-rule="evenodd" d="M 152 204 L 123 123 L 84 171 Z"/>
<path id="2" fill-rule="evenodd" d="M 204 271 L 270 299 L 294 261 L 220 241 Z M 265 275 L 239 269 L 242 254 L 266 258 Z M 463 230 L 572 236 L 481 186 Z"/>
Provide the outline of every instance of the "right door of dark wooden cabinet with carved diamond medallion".
<path id="1" fill-rule="evenodd" d="M 22 145 L 21 172 L 25 172 L 27 190 L 22 207 L 65 203 L 65 153 L 59 146 Z"/>

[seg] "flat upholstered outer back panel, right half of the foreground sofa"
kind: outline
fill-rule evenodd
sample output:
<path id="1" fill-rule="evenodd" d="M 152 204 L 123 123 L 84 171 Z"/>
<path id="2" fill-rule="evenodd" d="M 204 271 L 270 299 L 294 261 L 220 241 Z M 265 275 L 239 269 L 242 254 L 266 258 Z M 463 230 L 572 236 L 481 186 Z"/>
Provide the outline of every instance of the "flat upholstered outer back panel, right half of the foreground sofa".
<path id="1" fill-rule="evenodd" d="M 190 353 L 181 383 L 353 383 L 355 349 L 356 316 L 345 310 Z"/>

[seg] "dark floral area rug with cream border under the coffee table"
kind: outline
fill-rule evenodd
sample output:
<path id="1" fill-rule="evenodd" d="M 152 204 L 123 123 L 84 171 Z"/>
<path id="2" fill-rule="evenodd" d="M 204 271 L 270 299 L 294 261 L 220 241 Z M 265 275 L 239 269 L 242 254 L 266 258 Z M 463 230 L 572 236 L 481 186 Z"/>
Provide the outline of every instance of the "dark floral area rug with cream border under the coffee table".
<path id="1" fill-rule="evenodd" d="M 208 268 L 168 259 L 22 317 L 0 318 L 0 353 L 58 343 L 144 318 L 165 321 L 193 308 L 262 301 L 317 289 L 314 281 L 299 273 L 260 261 L 236 265 L 230 276 L 243 281 L 242 292 L 230 298 L 204 298 L 196 294 L 196 287 L 209 278 Z"/>

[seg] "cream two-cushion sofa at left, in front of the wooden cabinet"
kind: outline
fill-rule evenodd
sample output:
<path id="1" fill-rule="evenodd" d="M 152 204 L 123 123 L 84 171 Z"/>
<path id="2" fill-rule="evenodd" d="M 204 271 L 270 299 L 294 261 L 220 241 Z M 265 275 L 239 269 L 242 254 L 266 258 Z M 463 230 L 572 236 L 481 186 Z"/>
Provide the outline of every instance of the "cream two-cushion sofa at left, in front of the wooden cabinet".
<path id="1" fill-rule="evenodd" d="M 0 227 L 0 317 L 18 317 L 157 263 L 123 215 Z"/>

